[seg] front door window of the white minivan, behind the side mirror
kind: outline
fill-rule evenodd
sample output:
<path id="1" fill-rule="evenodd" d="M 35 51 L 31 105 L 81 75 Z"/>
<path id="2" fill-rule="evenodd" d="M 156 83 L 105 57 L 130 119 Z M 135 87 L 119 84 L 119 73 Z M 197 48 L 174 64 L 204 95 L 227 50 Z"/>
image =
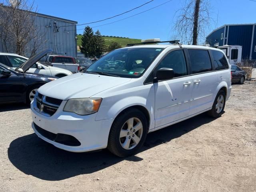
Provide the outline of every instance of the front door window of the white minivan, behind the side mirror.
<path id="1" fill-rule="evenodd" d="M 174 77 L 181 77 L 187 75 L 186 60 L 183 50 L 176 50 L 170 52 L 157 66 L 156 70 L 160 68 L 171 68 L 174 70 Z"/>

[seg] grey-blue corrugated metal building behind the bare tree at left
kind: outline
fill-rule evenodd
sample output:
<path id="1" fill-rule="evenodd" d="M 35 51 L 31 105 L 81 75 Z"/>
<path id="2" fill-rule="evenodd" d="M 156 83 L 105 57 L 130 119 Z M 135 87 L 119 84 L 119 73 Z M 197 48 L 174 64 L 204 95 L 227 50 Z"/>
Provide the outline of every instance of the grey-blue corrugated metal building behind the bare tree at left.
<path id="1" fill-rule="evenodd" d="M 38 28 L 39 36 L 41 36 L 42 42 L 46 40 L 46 42 L 42 43 L 40 48 L 36 51 L 36 53 L 52 48 L 54 51 L 53 54 L 60 54 L 64 56 L 72 56 L 76 57 L 77 55 L 77 42 L 76 42 L 76 21 L 67 20 L 63 18 L 58 18 L 54 16 L 49 16 L 45 14 L 31 12 L 32 16 L 35 16 L 35 25 Z M 56 46 L 54 39 L 54 22 L 56 22 L 56 26 L 58 28 L 58 32 L 56 32 Z M 30 41 L 30 45 L 28 45 L 28 49 L 26 50 L 26 56 L 30 56 L 30 48 L 34 42 Z M 56 51 L 56 47 L 57 50 Z M 6 52 L 4 50 L 4 46 L 0 42 L 0 52 Z"/>

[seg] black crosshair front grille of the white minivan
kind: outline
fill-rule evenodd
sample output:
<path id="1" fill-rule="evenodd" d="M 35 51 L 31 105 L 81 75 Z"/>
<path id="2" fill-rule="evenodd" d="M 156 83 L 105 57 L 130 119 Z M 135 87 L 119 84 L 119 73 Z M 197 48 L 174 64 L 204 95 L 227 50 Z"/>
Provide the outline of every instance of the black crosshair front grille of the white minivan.
<path id="1" fill-rule="evenodd" d="M 52 116 L 59 108 L 62 100 L 44 96 L 40 93 L 36 96 L 36 107 L 44 115 Z"/>

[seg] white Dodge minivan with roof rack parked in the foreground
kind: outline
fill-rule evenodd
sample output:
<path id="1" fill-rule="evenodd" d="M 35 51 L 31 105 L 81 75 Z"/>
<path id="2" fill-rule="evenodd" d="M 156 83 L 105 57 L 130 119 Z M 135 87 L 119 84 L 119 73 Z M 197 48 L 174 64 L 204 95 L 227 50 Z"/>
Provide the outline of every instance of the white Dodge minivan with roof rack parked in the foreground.
<path id="1" fill-rule="evenodd" d="M 38 137 L 71 152 L 108 148 L 124 157 L 149 132 L 203 112 L 221 116 L 231 92 L 224 53 L 149 43 L 114 50 L 86 71 L 41 86 L 31 102 Z"/>

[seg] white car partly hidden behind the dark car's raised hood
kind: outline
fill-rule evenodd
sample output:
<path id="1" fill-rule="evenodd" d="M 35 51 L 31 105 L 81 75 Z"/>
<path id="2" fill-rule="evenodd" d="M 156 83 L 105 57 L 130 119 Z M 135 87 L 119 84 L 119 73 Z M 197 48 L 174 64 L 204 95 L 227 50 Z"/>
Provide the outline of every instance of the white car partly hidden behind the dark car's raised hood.
<path id="1" fill-rule="evenodd" d="M 13 69 L 19 67 L 22 63 L 24 63 L 28 58 L 20 56 L 18 54 L 13 53 L 1 53 L 0 52 L 0 63 L 5 64 Z M 36 73 L 36 74 L 44 74 L 49 76 L 56 76 L 56 77 L 64 77 L 67 75 L 72 75 L 72 72 L 69 70 L 52 67 L 52 66 L 45 66 L 40 63 L 35 63 L 34 65 L 29 68 L 27 71 L 28 73 Z"/>

